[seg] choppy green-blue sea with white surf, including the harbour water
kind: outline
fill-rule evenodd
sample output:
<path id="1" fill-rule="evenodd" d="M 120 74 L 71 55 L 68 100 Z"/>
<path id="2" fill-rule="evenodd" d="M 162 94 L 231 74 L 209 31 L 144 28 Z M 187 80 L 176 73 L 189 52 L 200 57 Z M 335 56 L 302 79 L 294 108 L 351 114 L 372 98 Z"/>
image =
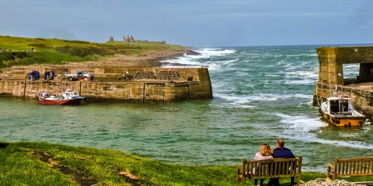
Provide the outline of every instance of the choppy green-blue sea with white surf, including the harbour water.
<path id="1" fill-rule="evenodd" d="M 207 66 L 213 100 L 177 103 L 38 104 L 0 97 L 0 141 L 38 141 L 115 149 L 171 164 L 237 165 L 263 143 L 302 156 L 304 171 L 326 172 L 334 158 L 373 157 L 373 125 L 335 127 L 323 121 L 312 94 L 316 47 L 215 47 L 166 60 L 164 67 Z M 357 46 L 357 45 L 337 45 Z M 344 65 L 344 76 L 359 64 Z"/>

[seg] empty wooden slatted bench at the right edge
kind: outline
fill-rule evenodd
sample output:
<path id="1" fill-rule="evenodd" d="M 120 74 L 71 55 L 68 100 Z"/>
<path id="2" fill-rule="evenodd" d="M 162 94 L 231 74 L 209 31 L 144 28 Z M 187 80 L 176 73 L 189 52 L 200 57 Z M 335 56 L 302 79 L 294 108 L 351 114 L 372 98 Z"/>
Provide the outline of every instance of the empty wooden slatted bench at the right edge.
<path id="1" fill-rule="evenodd" d="M 330 163 L 327 165 L 327 177 L 335 180 L 338 177 L 348 176 L 372 176 L 373 175 L 373 158 L 352 158 L 334 160 L 334 166 Z"/>

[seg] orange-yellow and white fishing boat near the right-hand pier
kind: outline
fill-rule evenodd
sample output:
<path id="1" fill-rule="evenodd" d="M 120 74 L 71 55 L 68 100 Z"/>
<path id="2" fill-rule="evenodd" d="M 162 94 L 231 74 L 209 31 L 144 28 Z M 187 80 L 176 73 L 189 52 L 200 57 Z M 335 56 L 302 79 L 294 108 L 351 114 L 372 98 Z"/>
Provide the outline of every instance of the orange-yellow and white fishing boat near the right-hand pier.
<path id="1" fill-rule="evenodd" d="M 351 105 L 347 95 L 331 96 L 321 103 L 319 112 L 336 126 L 363 126 L 365 116 Z"/>

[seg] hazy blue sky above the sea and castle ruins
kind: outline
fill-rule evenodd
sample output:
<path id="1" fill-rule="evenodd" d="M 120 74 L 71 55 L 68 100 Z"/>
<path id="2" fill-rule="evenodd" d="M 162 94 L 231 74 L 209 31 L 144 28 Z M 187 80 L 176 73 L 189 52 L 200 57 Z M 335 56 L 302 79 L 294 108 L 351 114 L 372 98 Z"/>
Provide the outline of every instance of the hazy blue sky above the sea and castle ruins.
<path id="1" fill-rule="evenodd" d="M 373 0 L 0 0 L 0 35 L 190 47 L 373 43 Z"/>

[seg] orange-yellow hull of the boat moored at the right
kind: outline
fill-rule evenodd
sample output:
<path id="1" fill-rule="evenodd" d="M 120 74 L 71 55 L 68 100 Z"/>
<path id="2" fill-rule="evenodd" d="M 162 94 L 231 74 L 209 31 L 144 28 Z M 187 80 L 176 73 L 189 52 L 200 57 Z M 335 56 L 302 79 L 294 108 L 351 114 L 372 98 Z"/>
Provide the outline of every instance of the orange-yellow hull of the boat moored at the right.
<path id="1" fill-rule="evenodd" d="M 335 126 L 362 126 L 364 124 L 364 116 L 328 115 L 322 112 L 322 117 Z"/>

